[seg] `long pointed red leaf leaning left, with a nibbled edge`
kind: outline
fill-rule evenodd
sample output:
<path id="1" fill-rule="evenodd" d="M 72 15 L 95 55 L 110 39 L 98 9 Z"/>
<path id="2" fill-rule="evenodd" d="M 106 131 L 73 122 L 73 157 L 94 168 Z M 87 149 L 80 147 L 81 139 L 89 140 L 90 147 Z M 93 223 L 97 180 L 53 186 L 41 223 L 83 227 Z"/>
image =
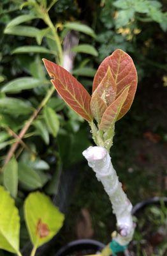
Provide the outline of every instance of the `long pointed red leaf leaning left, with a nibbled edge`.
<path id="1" fill-rule="evenodd" d="M 48 74 L 52 78 L 52 84 L 54 84 L 55 89 L 61 95 L 62 99 L 76 113 L 90 122 L 92 120 L 91 96 L 87 90 L 66 69 L 46 59 L 43 59 L 43 62 Z"/>

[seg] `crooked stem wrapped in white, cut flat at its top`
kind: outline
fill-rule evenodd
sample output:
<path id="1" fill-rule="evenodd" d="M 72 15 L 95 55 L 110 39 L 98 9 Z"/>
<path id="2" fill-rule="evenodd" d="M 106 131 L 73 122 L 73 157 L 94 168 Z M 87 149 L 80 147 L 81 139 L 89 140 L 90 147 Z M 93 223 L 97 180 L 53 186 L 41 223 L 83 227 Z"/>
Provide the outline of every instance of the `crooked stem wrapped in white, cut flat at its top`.
<path id="1" fill-rule="evenodd" d="M 96 177 L 103 184 L 117 218 L 117 236 L 114 238 L 121 246 L 128 244 L 133 238 L 134 224 L 131 215 L 132 204 L 122 189 L 111 157 L 106 148 L 89 147 L 83 151 L 89 166 L 96 173 Z"/>

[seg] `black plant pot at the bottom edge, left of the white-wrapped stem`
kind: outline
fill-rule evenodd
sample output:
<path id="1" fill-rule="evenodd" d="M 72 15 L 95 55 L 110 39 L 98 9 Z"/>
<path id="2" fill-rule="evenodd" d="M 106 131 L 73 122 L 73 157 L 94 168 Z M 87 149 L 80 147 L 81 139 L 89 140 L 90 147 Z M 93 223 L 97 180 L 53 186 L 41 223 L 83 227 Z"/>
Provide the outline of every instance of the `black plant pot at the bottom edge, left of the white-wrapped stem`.
<path id="1" fill-rule="evenodd" d="M 88 255 L 101 252 L 105 244 L 92 239 L 80 239 L 63 246 L 55 256 Z"/>

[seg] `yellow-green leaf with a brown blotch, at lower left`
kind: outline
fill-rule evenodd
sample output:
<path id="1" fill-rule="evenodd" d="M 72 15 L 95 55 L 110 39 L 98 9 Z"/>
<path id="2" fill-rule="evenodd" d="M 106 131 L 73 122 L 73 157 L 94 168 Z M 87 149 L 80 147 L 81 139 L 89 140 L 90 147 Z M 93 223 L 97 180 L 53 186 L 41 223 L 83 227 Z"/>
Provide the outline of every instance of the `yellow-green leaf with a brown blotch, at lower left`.
<path id="1" fill-rule="evenodd" d="M 40 192 L 31 193 L 25 200 L 24 216 L 32 243 L 39 247 L 52 239 L 62 227 L 64 215 Z M 45 228 L 42 234 L 40 226 Z"/>

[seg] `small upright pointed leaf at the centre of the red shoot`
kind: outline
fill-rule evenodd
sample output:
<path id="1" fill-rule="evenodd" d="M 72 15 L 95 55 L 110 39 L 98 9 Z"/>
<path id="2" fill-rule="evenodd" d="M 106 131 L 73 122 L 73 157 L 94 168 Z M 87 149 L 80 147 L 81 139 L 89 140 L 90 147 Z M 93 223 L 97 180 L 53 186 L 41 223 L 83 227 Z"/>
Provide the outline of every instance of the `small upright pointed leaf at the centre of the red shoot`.
<path id="1" fill-rule="evenodd" d="M 103 80 L 98 85 L 94 93 L 98 93 L 99 97 L 105 101 L 107 106 L 115 100 L 117 87 L 115 80 L 113 79 L 110 66 L 108 66 L 105 77 L 103 77 Z"/>

